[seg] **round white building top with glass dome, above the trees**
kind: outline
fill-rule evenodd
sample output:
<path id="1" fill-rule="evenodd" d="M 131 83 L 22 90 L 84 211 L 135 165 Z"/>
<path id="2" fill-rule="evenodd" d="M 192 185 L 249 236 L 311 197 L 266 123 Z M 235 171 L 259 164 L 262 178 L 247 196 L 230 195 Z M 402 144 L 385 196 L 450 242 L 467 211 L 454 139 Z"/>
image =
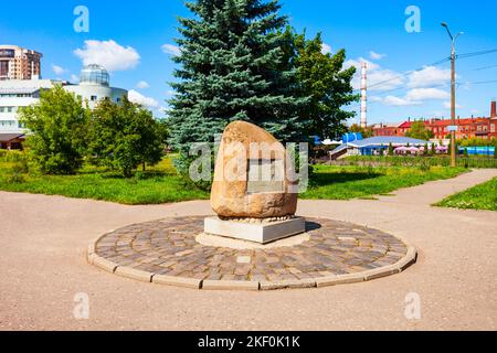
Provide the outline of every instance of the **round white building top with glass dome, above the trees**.
<path id="1" fill-rule="evenodd" d="M 91 109 L 94 109 L 102 99 L 107 98 L 119 103 L 123 96 L 128 95 L 126 89 L 110 87 L 108 72 L 95 64 L 83 67 L 78 85 L 67 85 L 64 88 L 74 93 L 76 97 L 81 97 L 83 103 L 87 103 Z"/>

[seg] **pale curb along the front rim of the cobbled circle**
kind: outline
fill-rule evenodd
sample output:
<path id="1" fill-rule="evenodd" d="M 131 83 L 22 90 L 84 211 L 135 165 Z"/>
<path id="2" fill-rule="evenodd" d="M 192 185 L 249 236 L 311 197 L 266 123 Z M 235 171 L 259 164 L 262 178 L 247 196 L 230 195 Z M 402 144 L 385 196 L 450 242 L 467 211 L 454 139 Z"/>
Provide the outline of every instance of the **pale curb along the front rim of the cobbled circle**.
<path id="1" fill-rule="evenodd" d="M 408 246 L 406 255 L 394 265 L 376 268 L 369 271 L 350 275 L 319 277 L 315 279 L 288 280 L 288 281 L 201 280 L 187 277 L 162 276 L 147 271 L 138 271 L 134 268 L 126 266 L 118 266 L 117 264 L 108 259 L 105 259 L 95 253 L 97 243 L 106 235 L 108 235 L 108 233 L 98 237 L 96 240 L 92 242 L 92 244 L 88 246 L 87 260 L 91 265 L 94 265 L 99 269 L 110 272 L 113 275 L 117 275 L 133 280 L 156 285 L 182 287 L 189 289 L 260 291 L 260 290 L 279 290 L 279 289 L 322 288 L 338 285 L 359 284 L 401 274 L 405 271 L 409 267 L 414 265 L 417 260 L 416 248 L 408 244 L 405 240 L 399 238 Z"/>

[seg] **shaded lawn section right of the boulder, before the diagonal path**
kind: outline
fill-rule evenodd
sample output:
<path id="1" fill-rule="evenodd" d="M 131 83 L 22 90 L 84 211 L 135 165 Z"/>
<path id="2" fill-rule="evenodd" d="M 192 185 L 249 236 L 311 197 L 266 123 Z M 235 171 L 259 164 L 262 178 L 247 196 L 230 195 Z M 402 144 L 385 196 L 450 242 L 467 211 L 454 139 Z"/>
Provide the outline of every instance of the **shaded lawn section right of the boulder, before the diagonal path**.
<path id="1" fill-rule="evenodd" d="M 331 167 L 317 165 L 309 190 L 302 199 L 350 200 L 374 199 L 392 191 L 423 184 L 427 181 L 451 179 L 465 172 L 464 168 L 432 167 L 420 168 L 385 167 Z"/>

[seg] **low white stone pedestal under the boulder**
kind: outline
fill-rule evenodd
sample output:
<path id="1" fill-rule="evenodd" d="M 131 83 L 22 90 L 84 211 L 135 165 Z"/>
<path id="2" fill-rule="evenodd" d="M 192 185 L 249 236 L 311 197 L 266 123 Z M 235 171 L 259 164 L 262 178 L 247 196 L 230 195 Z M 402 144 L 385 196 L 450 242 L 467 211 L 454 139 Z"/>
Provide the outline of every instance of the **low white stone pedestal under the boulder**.
<path id="1" fill-rule="evenodd" d="M 305 233 L 306 221 L 297 217 L 272 223 L 243 223 L 209 217 L 205 218 L 204 232 L 211 235 L 267 244 Z"/>

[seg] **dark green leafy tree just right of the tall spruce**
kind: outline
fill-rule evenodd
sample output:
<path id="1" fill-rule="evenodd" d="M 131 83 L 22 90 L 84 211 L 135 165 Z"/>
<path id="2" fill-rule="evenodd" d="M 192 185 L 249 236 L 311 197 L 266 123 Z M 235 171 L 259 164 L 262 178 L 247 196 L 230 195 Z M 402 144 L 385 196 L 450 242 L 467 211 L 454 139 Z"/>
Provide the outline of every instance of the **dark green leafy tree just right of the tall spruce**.
<path id="1" fill-rule="evenodd" d="M 303 113 L 303 117 L 309 121 L 308 133 L 334 139 L 343 122 L 355 116 L 353 111 L 341 108 L 357 101 L 360 96 L 353 94 L 351 85 L 356 67 L 343 69 L 345 50 L 335 55 L 325 54 L 322 44 L 320 33 L 311 40 L 306 40 L 305 33 L 295 34 L 295 65 L 300 95 L 310 97 Z M 363 132 L 364 136 L 368 135 L 367 131 Z"/>

